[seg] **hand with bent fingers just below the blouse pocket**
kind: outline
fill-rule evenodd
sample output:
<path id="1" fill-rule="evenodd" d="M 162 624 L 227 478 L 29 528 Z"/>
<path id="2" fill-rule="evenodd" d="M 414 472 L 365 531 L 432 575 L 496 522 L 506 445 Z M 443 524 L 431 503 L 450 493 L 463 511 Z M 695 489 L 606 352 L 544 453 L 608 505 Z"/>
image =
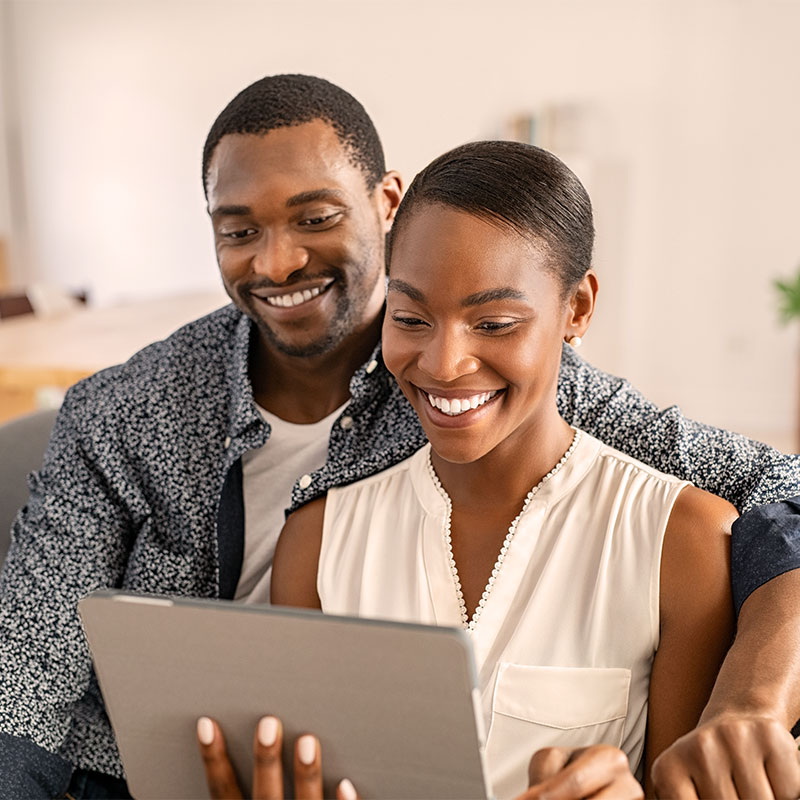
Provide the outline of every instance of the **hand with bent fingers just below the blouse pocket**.
<path id="1" fill-rule="evenodd" d="M 577 750 L 546 747 L 533 754 L 530 788 L 518 800 L 640 800 L 644 792 L 618 747 L 599 744 Z"/>

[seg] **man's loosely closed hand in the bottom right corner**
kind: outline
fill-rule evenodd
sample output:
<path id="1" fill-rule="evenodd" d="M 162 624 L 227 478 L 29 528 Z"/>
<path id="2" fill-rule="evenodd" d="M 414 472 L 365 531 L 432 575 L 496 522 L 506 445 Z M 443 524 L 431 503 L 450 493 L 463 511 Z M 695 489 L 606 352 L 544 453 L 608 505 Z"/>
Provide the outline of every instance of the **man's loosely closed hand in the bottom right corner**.
<path id="1" fill-rule="evenodd" d="M 709 720 L 654 762 L 657 797 L 748 800 L 800 797 L 800 762 L 792 735 L 767 716 L 728 714 Z"/>

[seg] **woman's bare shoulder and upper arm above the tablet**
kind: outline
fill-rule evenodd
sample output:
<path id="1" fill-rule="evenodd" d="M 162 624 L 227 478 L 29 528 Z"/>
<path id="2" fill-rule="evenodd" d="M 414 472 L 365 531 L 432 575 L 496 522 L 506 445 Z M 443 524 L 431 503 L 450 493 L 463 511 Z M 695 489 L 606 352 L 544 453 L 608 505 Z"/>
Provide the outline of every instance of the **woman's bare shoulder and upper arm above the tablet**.
<path id="1" fill-rule="evenodd" d="M 321 608 L 317 568 L 322 547 L 325 498 L 320 497 L 286 520 L 272 561 L 270 599 L 275 605 Z"/>

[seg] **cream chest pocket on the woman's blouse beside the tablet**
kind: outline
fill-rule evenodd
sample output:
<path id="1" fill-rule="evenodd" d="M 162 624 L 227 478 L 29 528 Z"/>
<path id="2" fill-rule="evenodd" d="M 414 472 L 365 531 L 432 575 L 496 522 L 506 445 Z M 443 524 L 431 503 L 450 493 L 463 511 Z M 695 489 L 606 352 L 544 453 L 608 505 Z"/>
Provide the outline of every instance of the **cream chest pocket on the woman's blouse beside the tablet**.
<path id="1" fill-rule="evenodd" d="M 495 795 L 527 788 L 528 761 L 542 747 L 619 747 L 630 682 L 630 670 L 622 668 L 502 662 L 486 745 Z"/>

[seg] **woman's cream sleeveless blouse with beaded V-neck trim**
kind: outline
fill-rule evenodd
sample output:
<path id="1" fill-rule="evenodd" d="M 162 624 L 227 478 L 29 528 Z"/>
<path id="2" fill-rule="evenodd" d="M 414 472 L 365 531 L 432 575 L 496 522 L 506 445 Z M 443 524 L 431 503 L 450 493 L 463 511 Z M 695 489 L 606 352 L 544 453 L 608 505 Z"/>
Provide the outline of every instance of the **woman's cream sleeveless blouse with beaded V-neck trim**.
<path id="1" fill-rule="evenodd" d="M 429 449 L 328 493 L 323 611 L 462 625 Z M 638 769 L 661 545 L 686 485 L 583 433 L 522 515 L 471 633 L 498 798 L 527 788 L 541 747 L 608 743 Z"/>

